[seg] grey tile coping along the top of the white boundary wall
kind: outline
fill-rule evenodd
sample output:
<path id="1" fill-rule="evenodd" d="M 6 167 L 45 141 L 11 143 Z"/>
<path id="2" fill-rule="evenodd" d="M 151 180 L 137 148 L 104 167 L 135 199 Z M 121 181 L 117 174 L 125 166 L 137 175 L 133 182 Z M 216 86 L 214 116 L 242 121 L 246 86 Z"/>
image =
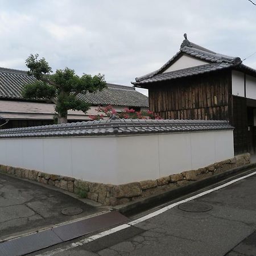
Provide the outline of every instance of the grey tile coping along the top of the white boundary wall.
<path id="1" fill-rule="evenodd" d="M 109 119 L 0 130 L 0 138 L 76 137 L 138 133 L 180 133 L 187 131 L 232 130 L 227 121 L 174 119 Z"/>

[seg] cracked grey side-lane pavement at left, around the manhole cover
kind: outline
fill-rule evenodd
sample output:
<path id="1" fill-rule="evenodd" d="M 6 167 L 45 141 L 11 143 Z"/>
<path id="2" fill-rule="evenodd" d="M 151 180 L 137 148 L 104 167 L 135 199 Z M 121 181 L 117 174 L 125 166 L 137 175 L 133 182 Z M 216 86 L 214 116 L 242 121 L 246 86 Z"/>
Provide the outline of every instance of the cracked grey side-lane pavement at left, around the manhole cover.
<path id="1" fill-rule="evenodd" d="M 69 207 L 81 208 L 82 213 L 61 213 Z M 0 174 L 0 241 L 102 210 L 59 191 Z"/>

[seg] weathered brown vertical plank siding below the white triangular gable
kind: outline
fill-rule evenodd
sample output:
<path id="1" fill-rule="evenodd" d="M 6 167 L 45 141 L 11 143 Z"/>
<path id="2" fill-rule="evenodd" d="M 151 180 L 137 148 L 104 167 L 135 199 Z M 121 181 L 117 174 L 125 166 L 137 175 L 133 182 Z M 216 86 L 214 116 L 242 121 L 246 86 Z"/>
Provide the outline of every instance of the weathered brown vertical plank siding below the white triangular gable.
<path id="1" fill-rule="evenodd" d="M 230 119 L 230 72 L 148 86 L 150 110 L 166 119 Z"/>

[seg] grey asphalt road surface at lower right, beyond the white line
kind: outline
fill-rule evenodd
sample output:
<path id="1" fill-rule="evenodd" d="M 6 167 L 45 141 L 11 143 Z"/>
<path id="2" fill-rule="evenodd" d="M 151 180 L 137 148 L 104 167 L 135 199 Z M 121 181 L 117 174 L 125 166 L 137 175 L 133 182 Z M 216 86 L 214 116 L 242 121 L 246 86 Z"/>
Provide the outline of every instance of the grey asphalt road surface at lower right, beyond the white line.
<path id="1" fill-rule="evenodd" d="M 187 212 L 181 204 L 92 242 L 72 247 L 81 237 L 30 255 L 256 255 L 256 175 L 192 203 L 194 211 L 209 209 Z"/>

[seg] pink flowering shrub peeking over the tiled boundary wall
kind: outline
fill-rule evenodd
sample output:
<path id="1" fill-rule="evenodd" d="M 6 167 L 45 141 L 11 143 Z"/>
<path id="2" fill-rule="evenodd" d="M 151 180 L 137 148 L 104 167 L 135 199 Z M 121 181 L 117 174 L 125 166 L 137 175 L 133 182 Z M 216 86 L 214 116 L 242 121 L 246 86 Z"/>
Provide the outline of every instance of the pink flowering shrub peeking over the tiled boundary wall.
<path id="1" fill-rule="evenodd" d="M 162 119 L 159 115 L 155 114 L 150 110 L 135 111 L 134 109 L 123 109 L 122 112 L 117 113 L 113 106 L 98 106 L 97 112 L 104 113 L 107 117 L 116 115 L 117 118 L 124 119 Z M 89 115 L 92 120 L 104 119 L 104 114 Z"/>

